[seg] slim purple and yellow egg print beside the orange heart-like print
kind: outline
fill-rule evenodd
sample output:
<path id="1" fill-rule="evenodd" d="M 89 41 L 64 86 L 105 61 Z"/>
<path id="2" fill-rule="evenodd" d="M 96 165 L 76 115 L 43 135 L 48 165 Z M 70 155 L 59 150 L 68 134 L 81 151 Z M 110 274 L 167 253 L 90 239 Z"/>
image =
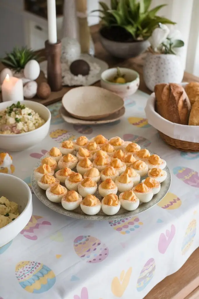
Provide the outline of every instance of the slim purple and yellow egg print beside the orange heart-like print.
<path id="1" fill-rule="evenodd" d="M 155 273 L 155 260 L 150 258 L 144 265 L 137 281 L 137 291 L 143 291 L 150 283 Z"/>

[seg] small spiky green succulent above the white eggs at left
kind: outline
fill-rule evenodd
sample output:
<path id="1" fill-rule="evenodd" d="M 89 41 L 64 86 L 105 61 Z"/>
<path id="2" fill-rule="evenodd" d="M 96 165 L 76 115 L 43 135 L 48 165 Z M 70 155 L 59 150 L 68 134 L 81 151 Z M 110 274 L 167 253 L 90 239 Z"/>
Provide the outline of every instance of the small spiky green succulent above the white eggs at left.
<path id="1" fill-rule="evenodd" d="M 38 55 L 36 55 L 33 50 L 27 47 L 22 47 L 21 49 L 15 47 L 12 52 L 6 53 L 6 57 L 2 58 L 1 62 L 8 68 L 19 72 L 25 67 L 27 62 L 32 59 L 39 60 Z"/>

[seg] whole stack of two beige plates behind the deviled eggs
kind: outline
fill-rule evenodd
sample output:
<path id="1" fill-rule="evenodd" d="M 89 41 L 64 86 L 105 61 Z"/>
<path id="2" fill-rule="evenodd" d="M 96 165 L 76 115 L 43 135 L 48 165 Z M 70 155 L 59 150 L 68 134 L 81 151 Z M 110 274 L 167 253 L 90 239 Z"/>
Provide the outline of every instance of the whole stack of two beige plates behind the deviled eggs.
<path id="1" fill-rule="evenodd" d="M 124 100 L 101 87 L 77 87 L 62 98 L 60 113 L 72 124 L 112 123 L 124 115 Z"/>

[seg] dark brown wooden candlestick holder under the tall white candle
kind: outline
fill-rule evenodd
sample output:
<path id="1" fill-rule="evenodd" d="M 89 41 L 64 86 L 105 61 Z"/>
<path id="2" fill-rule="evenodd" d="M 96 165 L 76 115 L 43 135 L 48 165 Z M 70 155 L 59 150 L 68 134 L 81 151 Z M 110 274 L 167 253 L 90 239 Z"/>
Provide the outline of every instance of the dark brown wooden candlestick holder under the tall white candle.
<path id="1" fill-rule="evenodd" d="M 47 58 L 47 82 L 51 91 L 59 91 L 62 89 L 61 74 L 61 40 L 56 44 L 50 44 L 48 40 L 45 42 L 46 58 Z"/>

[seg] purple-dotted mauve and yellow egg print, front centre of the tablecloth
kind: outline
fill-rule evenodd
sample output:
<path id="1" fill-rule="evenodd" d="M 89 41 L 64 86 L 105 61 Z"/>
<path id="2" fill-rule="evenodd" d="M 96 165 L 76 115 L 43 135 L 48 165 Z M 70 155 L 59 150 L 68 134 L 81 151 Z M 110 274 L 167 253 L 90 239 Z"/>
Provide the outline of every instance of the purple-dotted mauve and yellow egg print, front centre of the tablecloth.
<path id="1" fill-rule="evenodd" d="M 74 240 L 74 249 L 78 257 L 87 263 L 102 262 L 109 254 L 107 246 L 92 236 L 77 237 Z"/>

